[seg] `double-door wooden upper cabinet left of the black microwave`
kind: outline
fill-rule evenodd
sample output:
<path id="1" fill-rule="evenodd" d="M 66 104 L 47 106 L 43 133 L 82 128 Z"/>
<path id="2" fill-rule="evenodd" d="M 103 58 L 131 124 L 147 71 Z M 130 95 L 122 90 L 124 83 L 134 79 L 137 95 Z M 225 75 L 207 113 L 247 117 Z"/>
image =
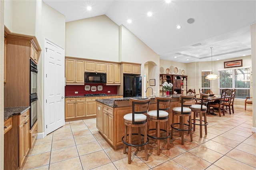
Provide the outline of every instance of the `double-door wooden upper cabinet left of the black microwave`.
<path id="1" fill-rule="evenodd" d="M 84 84 L 84 61 L 77 59 L 65 59 L 66 84 Z M 75 85 L 75 84 L 74 84 Z"/>

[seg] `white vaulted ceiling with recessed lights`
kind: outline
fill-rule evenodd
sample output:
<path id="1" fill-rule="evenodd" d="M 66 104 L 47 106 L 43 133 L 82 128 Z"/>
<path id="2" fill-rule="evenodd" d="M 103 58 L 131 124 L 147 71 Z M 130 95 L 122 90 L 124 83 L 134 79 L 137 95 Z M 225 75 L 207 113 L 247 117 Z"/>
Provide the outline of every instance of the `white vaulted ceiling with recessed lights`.
<path id="1" fill-rule="evenodd" d="M 106 15 L 124 25 L 160 59 L 190 63 L 251 55 L 256 0 L 43 0 L 66 22 Z M 92 10 L 86 10 L 92 6 Z M 152 12 L 148 17 L 147 12 Z M 193 24 L 187 20 L 194 18 Z M 128 24 L 127 20 L 132 23 Z M 181 29 L 176 29 L 176 25 Z M 192 46 L 200 43 L 201 45 Z M 176 58 L 174 58 L 176 56 Z M 187 60 L 189 59 L 189 60 Z"/>

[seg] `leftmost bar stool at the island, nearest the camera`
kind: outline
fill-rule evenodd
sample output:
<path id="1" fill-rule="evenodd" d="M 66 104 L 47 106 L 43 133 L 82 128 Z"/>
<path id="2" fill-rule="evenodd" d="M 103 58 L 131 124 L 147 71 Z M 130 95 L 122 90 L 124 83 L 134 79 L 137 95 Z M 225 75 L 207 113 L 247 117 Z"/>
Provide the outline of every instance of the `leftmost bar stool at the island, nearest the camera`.
<path id="1" fill-rule="evenodd" d="M 131 146 L 138 146 L 139 150 L 141 150 L 140 146 L 144 146 L 145 160 L 148 160 L 147 116 L 144 114 L 148 112 L 150 98 L 148 99 L 132 99 L 131 98 L 129 103 L 130 105 L 132 105 L 132 113 L 128 113 L 124 115 L 125 128 L 124 128 L 124 136 L 122 137 L 122 142 L 124 143 L 124 154 L 126 154 L 126 148 L 128 146 L 128 164 L 130 164 L 132 161 Z M 132 133 L 133 127 L 138 127 L 138 133 Z M 144 134 L 141 134 L 141 127 L 144 127 Z M 132 135 L 138 135 L 138 144 L 132 144 Z M 128 142 L 127 142 L 127 136 L 128 136 Z M 141 136 L 144 136 L 143 144 L 141 144 Z"/>

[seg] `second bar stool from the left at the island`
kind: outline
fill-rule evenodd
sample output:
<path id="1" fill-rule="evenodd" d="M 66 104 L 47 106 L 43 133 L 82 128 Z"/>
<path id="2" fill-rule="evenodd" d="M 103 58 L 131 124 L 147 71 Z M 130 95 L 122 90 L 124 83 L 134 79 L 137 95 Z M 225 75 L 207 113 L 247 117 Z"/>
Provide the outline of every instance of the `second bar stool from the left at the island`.
<path id="1" fill-rule="evenodd" d="M 172 97 L 156 97 L 157 110 L 148 111 L 148 136 L 157 140 L 157 155 L 160 155 L 160 139 L 167 138 L 167 149 L 169 150 L 170 133 L 169 133 L 169 108 Z M 168 112 L 167 112 L 168 111 Z M 156 128 L 149 129 L 149 121 L 156 123 Z M 166 122 L 166 130 L 160 129 L 160 123 Z M 156 130 L 156 135 L 150 136 L 149 131 Z M 166 136 L 160 137 L 160 130 L 166 132 Z"/>

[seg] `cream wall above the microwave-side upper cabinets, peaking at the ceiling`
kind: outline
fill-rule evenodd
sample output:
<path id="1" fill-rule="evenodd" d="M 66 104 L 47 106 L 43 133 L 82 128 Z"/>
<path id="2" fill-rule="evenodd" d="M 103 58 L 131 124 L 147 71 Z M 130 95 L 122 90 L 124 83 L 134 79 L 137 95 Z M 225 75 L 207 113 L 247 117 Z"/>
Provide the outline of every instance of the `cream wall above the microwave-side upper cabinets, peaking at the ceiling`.
<path id="1" fill-rule="evenodd" d="M 118 25 L 105 15 L 66 23 L 66 56 L 118 62 L 118 48 Z"/>

